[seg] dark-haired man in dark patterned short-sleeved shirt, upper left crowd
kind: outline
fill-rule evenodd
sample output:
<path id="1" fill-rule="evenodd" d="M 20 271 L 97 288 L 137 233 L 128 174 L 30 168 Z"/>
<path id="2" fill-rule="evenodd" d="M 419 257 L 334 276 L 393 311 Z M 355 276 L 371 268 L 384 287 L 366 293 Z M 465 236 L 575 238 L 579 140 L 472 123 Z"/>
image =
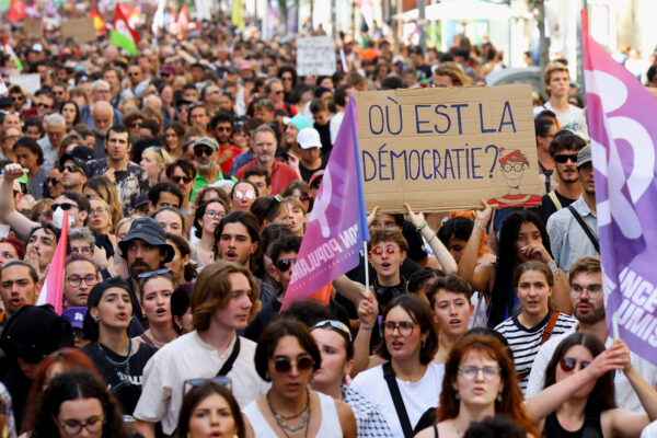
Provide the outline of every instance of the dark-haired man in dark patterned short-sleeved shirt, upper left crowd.
<path id="1" fill-rule="evenodd" d="M 150 186 L 146 170 L 129 161 L 131 148 L 128 129 L 115 125 L 107 129 L 106 158 L 89 162 L 91 176 L 103 175 L 114 183 L 126 216 L 132 214 L 137 197 Z"/>

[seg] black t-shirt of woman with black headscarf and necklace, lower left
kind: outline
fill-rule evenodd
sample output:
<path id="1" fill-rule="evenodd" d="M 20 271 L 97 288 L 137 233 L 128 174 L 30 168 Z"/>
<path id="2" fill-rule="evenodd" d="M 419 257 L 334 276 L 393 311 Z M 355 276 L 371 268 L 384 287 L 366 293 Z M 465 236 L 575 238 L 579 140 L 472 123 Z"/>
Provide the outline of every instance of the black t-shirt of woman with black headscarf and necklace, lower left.
<path id="1" fill-rule="evenodd" d="M 135 412 L 141 395 L 143 367 L 158 350 L 155 347 L 143 343 L 138 343 L 138 345 L 139 348 L 130 354 L 129 360 L 127 360 L 127 356 L 119 356 L 97 342 L 85 345 L 80 349 L 91 358 L 103 380 L 107 383 L 107 389 L 114 393 L 120 403 L 125 415 L 132 415 L 132 412 Z"/>

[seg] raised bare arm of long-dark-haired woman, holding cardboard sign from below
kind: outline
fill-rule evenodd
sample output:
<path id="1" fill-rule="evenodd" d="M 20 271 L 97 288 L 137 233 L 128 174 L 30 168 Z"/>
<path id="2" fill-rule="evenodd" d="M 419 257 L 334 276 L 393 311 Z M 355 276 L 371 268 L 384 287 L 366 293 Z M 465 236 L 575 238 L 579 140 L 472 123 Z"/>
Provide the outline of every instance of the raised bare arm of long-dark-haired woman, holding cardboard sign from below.
<path id="1" fill-rule="evenodd" d="M 472 233 L 470 233 L 470 239 L 468 239 L 468 244 L 461 254 L 458 274 L 470 283 L 474 290 L 479 290 L 487 297 L 489 295 L 488 284 L 491 281 L 489 276 L 492 269 L 475 268 L 477 265 L 480 243 L 493 210 L 483 199 L 482 204 L 484 207 L 483 210 L 476 210 L 474 212 L 474 227 L 472 228 Z"/>

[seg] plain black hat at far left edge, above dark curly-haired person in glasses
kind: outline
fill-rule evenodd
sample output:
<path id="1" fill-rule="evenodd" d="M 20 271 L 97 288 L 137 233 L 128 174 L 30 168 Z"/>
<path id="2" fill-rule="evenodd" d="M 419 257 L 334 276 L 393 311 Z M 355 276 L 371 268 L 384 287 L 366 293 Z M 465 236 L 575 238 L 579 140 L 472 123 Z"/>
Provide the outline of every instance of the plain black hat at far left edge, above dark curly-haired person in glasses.
<path id="1" fill-rule="evenodd" d="M 38 364 L 50 353 L 73 344 L 71 324 L 49 306 L 23 306 L 0 336 L 0 348 L 7 356 L 30 364 Z"/>

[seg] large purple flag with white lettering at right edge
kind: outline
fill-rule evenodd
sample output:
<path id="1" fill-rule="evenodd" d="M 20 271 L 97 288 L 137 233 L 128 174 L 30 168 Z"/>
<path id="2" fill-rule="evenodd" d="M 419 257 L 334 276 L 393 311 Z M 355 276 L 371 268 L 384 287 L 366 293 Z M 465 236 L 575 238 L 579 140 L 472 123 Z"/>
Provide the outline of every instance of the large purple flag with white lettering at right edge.
<path id="1" fill-rule="evenodd" d="M 657 364 L 657 100 L 590 37 L 584 68 L 607 324 Z M 653 242 L 649 244 L 649 242 Z"/>

